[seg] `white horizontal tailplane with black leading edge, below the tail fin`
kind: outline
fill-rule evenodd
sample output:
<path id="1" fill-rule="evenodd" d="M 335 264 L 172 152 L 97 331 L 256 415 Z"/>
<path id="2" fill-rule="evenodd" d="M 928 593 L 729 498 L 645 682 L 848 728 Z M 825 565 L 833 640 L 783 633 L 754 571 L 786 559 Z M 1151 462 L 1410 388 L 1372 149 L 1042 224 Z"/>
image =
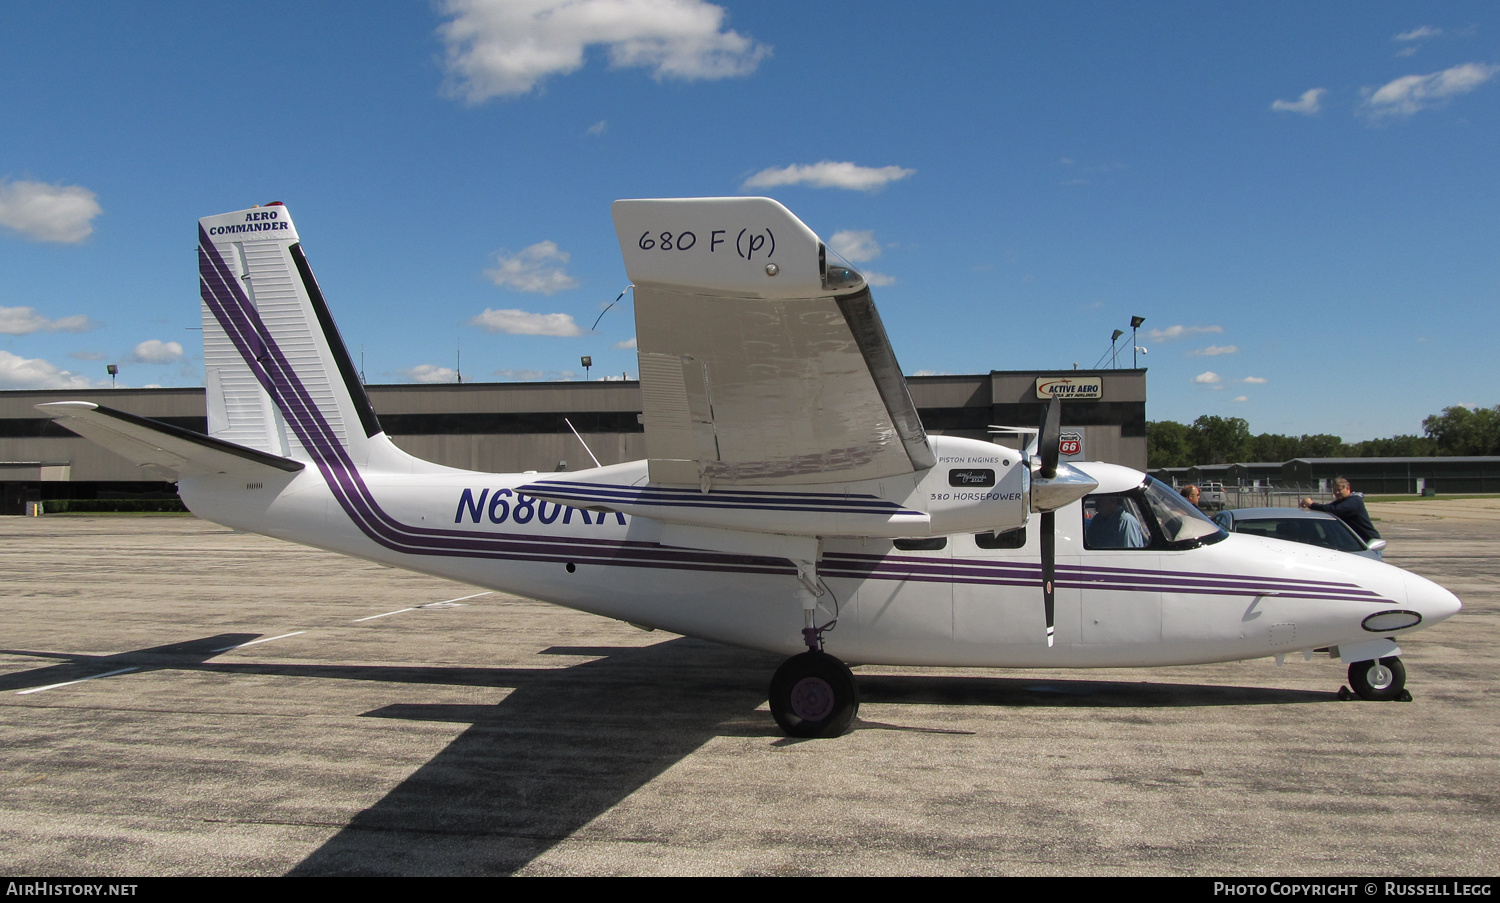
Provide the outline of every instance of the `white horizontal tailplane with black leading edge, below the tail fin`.
<path id="1" fill-rule="evenodd" d="M 176 480 L 182 474 L 254 477 L 270 472 L 294 474 L 303 468 L 298 460 L 267 454 L 93 402 L 51 402 L 36 406 L 62 426 L 135 462 L 156 478 Z"/>

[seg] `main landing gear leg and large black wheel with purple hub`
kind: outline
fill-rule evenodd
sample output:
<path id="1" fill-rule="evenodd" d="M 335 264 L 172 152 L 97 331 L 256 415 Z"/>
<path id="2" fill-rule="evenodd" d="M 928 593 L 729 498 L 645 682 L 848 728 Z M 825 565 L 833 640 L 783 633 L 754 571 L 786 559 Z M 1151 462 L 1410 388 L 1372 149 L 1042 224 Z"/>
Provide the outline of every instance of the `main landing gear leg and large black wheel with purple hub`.
<path id="1" fill-rule="evenodd" d="M 860 686 L 854 672 L 824 651 L 824 632 L 837 622 L 818 627 L 818 597 L 824 594 L 813 561 L 795 561 L 802 586 L 802 642 L 807 651 L 792 656 L 771 678 L 771 716 L 789 736 L 838 736 L 860 711 Z"/>

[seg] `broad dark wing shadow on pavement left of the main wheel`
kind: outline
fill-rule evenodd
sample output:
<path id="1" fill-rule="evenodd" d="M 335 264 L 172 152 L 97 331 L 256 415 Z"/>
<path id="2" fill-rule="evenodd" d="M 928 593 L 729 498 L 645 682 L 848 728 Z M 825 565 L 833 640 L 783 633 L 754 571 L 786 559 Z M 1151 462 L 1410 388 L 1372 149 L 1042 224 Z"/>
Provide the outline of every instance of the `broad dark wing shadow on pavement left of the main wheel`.
<path id="1" fill-rule="evenodd" d="M 510 874 L 726 729 L 780 736 L 756 714 L 774 657 L 693 639 L 549 652 L 604 657 L 501 669 L 496 705 L 366 712 L 470 728 L 291 874 Z"/>

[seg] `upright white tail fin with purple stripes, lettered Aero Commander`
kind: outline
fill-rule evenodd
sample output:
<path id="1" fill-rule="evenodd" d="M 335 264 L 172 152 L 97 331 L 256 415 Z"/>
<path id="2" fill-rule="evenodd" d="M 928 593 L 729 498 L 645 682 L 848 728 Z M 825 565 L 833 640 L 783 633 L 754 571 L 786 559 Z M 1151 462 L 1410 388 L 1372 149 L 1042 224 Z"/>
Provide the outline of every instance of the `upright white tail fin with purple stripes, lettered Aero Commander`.
<path id="1" fill-rule="evenodd" d="M 381 432 L 286 207 L 200 219 L 198 273 L 208 435 L 294 460 L 410 460 Z"/>

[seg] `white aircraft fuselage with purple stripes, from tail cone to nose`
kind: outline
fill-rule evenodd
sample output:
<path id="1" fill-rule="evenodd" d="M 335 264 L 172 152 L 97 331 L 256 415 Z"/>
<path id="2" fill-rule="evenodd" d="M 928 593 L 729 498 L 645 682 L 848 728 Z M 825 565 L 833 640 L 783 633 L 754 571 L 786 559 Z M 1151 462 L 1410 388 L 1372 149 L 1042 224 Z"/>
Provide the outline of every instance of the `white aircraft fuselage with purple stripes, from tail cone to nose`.
<path id="1" fill-rule="evenodd" d="M 645 462 L 608 470 L 610 483 L 645 478 Z M 800 584 L 788 560 L 663 544 L 656 519 L 520 492 L 540 477 L 360 471 L 328 480 L 308 468 L 280 484 L 184 478 L 180 492 L 196 513 L 238 530 L 674 633 L 780 654 L 801 648 Z M 1418 627 L 1458 609 L 1446 590 L 1396 567 L 1260 537 L 1086 549 L 1074 502 L 1058 513 L 1048 648 L 1036 525 L 1028 531 L 1016 550 L 982 549 L 970 532 L 945 537 L 940 549 L 824 538 L 819 620 L 837 615 L 828 650 L 880 664 L 1192 664 L 1395 638 L 1401 630 L 1370 630 L 1366 620 L 1416 612 Z"/>

